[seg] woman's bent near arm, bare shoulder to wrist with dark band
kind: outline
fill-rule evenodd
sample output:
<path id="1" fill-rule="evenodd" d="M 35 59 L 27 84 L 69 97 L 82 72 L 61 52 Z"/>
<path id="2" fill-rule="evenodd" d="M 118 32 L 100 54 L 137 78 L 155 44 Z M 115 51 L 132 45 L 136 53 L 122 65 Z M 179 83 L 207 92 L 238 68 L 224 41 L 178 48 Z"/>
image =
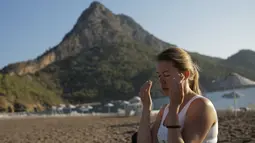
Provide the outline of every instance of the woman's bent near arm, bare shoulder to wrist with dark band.
<path id="1" fill-rule="evenodd" d="M 167 125 L 180 125 L 178 119 L 178 105 L 170 105 Z M 184 130 L 180 128 L 168 129 L 170 143 L 202 143 L 213 123 L 216 115 L 212 103 L 206 99 L 197 99 L 192 102 L 187 111 Z"/>

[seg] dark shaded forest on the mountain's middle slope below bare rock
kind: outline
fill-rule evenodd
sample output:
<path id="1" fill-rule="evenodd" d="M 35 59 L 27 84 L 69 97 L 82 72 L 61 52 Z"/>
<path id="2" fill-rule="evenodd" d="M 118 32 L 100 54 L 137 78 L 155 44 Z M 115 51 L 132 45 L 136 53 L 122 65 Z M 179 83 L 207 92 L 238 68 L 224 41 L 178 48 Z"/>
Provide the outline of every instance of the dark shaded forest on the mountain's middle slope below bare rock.
<path id="1" fill-rule="evenodd" d="M 128 99 L 155 73 L 156 52 L 134 41 L 96 46 L 38 74 L 57 79 L 56 86 L 63 88 L 63 97 L 71 102 Z"/>

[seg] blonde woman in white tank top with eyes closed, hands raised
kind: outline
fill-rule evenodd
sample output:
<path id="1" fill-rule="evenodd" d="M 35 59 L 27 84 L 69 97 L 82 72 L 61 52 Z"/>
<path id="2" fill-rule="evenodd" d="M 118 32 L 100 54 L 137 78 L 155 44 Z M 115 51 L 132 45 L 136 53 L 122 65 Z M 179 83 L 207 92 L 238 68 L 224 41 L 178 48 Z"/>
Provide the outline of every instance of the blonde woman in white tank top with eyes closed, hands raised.
<path id="1" fill-rule="evenodd" d="M 201 96 L 199 74 L 190 55 L 181 48 L 169 48 L 157 56 L 160 86 L 170 103 L 163 106 L 150 128 L 151 81 L 140 89 L 143 112 L 138 143 L 216 143 L 217 113 Z"/>

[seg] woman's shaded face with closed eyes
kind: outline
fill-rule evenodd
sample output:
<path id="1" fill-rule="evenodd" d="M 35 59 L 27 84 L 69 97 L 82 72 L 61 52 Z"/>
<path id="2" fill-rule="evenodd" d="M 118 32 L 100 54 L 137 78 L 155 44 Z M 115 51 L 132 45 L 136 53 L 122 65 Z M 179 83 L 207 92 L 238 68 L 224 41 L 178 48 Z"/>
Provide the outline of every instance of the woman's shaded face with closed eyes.
<path id="1" fill-rule="evenodd" d="M 163 94 L 169 96 L 172 82 L 178 82 L 177 80 L 180 80 L 179 71 L 168 61 L 159 61 L 156 69 Z"/>

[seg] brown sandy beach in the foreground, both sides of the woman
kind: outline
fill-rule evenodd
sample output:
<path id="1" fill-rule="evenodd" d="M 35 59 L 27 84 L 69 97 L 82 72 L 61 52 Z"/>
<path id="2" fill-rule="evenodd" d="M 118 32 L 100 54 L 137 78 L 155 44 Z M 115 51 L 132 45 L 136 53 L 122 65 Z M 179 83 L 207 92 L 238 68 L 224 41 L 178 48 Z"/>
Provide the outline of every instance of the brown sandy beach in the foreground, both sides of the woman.
<path id="1" fill-rule="evenodd" d="M 138 117 L 0 120 L 1 143 L 130 143 Z M 219 113 L 219 143 L 255 143 L 255 112 Z"/>

